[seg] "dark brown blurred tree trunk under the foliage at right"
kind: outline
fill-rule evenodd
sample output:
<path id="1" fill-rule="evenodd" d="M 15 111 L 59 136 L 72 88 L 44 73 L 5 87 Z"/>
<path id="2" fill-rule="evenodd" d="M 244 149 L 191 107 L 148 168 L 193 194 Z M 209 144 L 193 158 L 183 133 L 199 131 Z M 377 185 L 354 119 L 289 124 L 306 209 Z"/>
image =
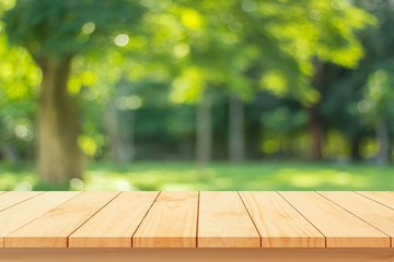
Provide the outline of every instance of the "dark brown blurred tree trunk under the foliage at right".
<path id="1" fill-rule="evenodd" d="M 318 105 L 310 110 L 310 134 L 312 141 L 309 158 L 310 160 L 321 160 L 323 158 L 323 124 L 318 114 Z"/>

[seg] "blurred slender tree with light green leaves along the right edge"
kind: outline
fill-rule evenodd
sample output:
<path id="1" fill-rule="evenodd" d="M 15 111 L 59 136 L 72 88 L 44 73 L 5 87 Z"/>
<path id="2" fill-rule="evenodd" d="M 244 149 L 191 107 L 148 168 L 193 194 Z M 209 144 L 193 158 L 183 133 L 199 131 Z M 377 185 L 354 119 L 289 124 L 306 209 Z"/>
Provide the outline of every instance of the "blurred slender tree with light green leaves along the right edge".
<path id="1" fill-rule="evenodd" d="M 358 4 L 374 14 L 380 25 L 363 34 L 363 43 L 368 48 L 368 73 L 364 71 L 368 80 L 363 99 L 358 106 L 366 121 L 375 128 L 379 141 L 378 164 L 386 165 L 391 158 L 390 119 L 394 117 L 394 2 L 363 1 Z"/>

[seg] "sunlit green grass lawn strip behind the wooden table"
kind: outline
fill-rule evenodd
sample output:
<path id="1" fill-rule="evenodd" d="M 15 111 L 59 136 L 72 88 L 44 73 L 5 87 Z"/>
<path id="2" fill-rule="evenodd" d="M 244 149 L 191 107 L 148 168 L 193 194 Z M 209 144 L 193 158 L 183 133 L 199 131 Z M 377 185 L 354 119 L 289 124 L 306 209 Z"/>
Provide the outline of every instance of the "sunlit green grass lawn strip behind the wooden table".
<path id="1" fill-rule="evenodd" d="M 33 165 L 0 163 L 0 190 L 393 190 L 394 166 L 262 162 L 215 163 L 199 170 L 193 163 L 95 163 L 83 181 L 54 187 L 39 182 Z"/>

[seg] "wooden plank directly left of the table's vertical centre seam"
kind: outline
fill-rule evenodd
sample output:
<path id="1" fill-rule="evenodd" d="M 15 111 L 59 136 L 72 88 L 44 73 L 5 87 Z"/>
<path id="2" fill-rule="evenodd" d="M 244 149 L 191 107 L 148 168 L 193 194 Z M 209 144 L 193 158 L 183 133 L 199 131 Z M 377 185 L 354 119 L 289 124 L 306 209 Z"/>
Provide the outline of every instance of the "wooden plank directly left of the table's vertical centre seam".
<path id="1" fill-rule="evenodd" d="M 196 247 L 198 192 L 161 192 L 132 247 Z"/>

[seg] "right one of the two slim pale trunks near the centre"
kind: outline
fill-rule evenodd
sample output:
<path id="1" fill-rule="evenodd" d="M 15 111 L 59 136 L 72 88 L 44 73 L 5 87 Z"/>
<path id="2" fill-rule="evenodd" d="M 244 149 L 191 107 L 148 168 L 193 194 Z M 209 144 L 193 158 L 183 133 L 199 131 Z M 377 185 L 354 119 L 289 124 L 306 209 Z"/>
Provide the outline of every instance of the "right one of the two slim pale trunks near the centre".
<path id="1" fill-rule="evenodd" d="M 231 95 L 229 105 L 230 162 L 236 164 L 244 160 L 244 104 Z"/>

